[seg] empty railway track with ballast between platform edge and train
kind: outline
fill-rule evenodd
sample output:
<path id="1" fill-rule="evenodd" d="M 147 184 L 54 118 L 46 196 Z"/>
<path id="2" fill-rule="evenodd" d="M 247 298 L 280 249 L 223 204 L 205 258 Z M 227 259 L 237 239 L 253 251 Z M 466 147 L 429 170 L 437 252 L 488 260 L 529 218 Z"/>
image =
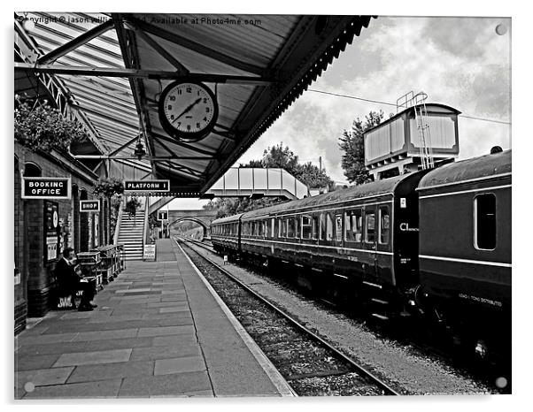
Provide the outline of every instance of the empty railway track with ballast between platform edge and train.
<path id="1" fill-rule="evenodd" d="M 255 293 L 231 273 L 176 240 L 243 327 L 300 396 L 398 395 L 359 362 L 333 347 L 274 303 Z"/>

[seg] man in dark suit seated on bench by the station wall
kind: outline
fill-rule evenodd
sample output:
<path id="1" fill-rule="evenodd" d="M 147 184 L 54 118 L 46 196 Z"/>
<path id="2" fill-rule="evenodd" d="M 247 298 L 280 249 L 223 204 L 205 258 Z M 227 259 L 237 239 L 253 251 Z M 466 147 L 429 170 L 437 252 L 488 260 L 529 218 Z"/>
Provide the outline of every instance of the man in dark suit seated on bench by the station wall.
<path id="1" fill-rule="evenodd" d="M 97 305 L 93 305 L 90 302 L 95 295 L 95 287 L 92 285 L 92 282 L 83 281 L 81 273 L 76 273 L 75 267 L 72 264 L 73 258 L 73 248 L 65 248 L 63 250 L 63 257 L 56 263 L 56 278 L 58 278 L 59 287 L 71 294 L 73 309 L 76 309 L 74 302 L 76 292 L 81 290 L 81 302 L 78 310 L 92 310 L 97 307 Z"/>

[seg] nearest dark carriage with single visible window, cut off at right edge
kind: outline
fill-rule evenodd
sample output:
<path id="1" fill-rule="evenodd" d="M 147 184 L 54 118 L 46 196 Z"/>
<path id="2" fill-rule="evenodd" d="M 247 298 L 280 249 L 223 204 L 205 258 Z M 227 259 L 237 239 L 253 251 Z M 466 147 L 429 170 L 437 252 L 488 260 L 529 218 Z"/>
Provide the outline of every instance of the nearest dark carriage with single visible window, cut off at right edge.
<path id="1" fill-rule="evenodd" d="M 447 164 L 418 192 L 424 292 L 452 317 L 510 327 L 511 151 Z"/>

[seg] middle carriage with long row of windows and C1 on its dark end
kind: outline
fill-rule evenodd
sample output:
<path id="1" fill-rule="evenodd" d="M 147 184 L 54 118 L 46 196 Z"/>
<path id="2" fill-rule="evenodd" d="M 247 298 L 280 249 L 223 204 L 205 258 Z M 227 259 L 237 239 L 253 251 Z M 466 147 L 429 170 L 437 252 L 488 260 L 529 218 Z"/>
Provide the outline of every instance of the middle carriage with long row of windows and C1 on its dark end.
<path id="1" fill-rule="evenodd" d="M 245 212 L 240 217 L 242 252 L 377 289 L 415 286 L 415 188 L 422 175 L 411 173 Z"/>

